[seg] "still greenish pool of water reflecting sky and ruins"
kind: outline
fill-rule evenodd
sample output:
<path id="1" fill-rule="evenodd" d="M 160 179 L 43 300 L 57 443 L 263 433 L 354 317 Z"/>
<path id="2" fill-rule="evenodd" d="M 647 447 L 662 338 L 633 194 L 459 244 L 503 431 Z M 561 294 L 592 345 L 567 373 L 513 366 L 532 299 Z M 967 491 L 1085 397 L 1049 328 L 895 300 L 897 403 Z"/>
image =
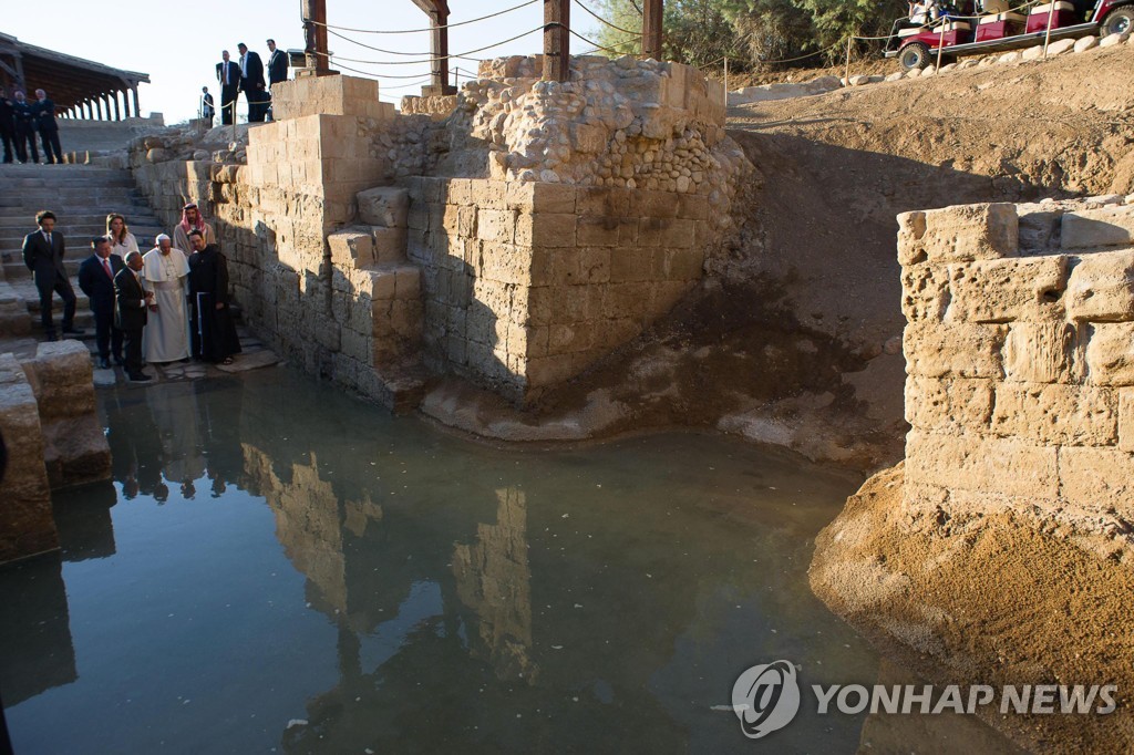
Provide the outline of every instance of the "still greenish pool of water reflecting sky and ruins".
<path id="1" fill-rule="evenodd" d="M 282 368 L 100 399 L 113 483 L 0 568 L 17 753 L 748 752 L 750 665 L 877 678 L 806 579 L 857 477 L 692 433 L 501 450 Z M 769 745 L 858 748 L 805 709 Z"/>

